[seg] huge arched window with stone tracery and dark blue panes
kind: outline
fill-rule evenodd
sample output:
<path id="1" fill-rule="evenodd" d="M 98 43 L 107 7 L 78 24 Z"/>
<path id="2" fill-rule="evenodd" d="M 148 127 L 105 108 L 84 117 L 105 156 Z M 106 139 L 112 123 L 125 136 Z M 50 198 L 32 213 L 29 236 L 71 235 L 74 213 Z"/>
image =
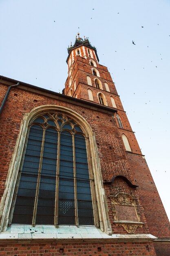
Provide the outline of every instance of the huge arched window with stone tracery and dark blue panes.
<path id="1" fill-rule="evenodd" d="M 9 224 L 94 225 L 88 151 L 83 127 L 71 117 L 45 112 L 32 119 Z"/>

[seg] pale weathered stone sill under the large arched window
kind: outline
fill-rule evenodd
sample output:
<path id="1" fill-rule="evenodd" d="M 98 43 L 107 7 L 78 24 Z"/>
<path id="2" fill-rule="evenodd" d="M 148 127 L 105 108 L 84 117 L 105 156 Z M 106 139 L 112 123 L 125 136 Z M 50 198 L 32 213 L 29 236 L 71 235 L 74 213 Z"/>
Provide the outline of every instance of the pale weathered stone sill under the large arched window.
<path id="1" fill-rule="evenodd" d="M 151 241 L 156 237 L 151 234 L 113 234 L 111 236 L 96 227 L 76 227 L 51 225 L 12 225 L 0 233 L 0 243 L 58 243 L 58 242 L 128 242 Z"/>

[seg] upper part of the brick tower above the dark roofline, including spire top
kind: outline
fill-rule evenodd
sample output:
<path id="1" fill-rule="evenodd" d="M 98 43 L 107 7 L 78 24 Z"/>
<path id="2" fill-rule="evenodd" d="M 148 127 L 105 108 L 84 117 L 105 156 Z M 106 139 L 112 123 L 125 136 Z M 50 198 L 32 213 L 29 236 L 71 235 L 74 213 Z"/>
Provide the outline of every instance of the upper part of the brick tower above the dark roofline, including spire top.
<path id="1" fill-rule="evenodd" d="M 116 101 L 121 104 L 110 73 L 99 64 L 97 49 L 88 38 L 77 34 L 74 45 L 68 47 L 66 62 L 68 78 L 64 94 L 110 108 L 117 108 Z"/>

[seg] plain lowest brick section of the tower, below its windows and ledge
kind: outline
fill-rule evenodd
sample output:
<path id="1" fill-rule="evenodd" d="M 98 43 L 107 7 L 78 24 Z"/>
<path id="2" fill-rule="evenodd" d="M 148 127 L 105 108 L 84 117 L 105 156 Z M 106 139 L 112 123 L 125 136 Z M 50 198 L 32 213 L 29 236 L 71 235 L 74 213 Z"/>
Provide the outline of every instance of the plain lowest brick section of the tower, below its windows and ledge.
<path id="1" fill-rule="evenodd" d="M 144 207 L 149 231 L 158 238 L 170 238 L 170 223 L 146 160 L 140 155 L 127 153 L 139 197 Z"/>

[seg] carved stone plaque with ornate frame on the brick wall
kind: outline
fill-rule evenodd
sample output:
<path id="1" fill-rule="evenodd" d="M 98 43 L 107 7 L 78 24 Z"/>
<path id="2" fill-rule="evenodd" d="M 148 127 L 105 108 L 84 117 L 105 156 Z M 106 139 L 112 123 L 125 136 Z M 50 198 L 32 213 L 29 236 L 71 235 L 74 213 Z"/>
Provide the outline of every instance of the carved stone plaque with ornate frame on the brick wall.
<path id="1" fill-rule="evenodd" d="M 135 199 L 127 193 L 110 195 L 115 225 L 124 227 L 128 233 L 135 233 L 137 227 L 144 223 L 140 221 Z"/>

